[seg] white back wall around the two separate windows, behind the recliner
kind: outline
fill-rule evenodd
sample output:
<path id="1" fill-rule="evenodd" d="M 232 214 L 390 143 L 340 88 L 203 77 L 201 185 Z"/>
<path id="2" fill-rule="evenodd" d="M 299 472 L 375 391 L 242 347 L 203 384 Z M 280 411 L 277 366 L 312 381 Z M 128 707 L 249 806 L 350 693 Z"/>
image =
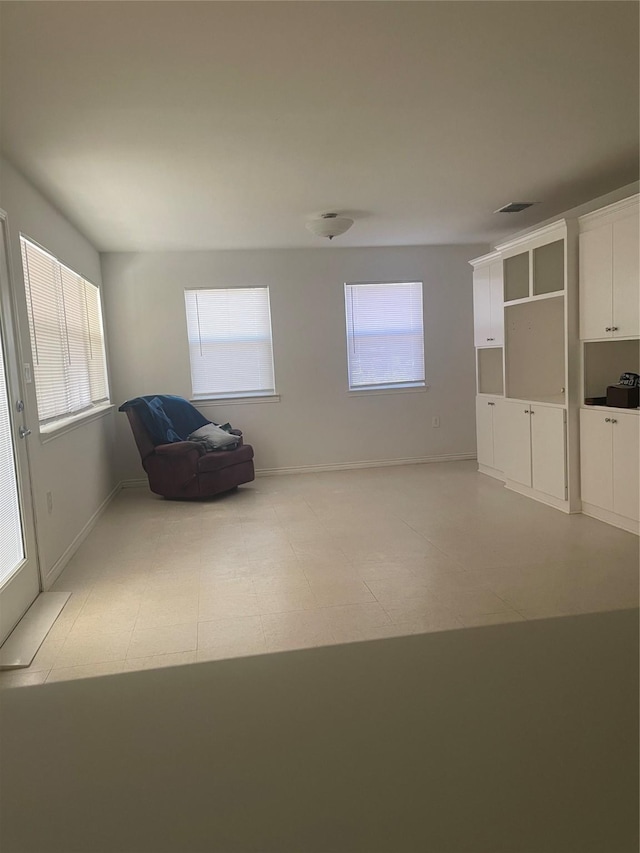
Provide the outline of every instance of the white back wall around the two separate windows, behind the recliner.
<path id="1" fill-rule="evenodd" d="M 486 246 L 102 255 L 114 400 L 191 394 L 183 291 L 268 285 L 279 403 L 202 405 L 253 444 L 258 470 L 475 453 L 471 267 Z M 344 282 L 424 282 L 420 393 L 347 393 Z M 431 427 L 432 416 L 441 427 Z M 142 475 L 118 415 L 119 475 Z"/>

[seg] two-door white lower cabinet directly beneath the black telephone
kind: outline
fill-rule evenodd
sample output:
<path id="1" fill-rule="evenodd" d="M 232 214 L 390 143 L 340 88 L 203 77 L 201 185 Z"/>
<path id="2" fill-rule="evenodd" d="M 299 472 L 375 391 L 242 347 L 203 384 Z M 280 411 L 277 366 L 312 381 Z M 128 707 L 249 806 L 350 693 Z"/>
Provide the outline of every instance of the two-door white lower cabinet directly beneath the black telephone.
<path id="1" fill-rule="evenodd" d="M 640 417 L 598 409 L 580 412 L 583 503 L 640 520 Z"/>

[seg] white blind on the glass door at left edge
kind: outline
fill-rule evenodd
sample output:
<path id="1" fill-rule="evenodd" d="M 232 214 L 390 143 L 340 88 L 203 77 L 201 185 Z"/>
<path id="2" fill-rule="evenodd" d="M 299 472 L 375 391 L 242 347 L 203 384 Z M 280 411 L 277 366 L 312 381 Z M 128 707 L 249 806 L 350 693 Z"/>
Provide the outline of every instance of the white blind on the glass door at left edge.
<path id="1" fill-rule="evenodd" d="M 13 453 L 7 373 L 0 327 L 0 584 L 24 559 L 18 478 Z"/>

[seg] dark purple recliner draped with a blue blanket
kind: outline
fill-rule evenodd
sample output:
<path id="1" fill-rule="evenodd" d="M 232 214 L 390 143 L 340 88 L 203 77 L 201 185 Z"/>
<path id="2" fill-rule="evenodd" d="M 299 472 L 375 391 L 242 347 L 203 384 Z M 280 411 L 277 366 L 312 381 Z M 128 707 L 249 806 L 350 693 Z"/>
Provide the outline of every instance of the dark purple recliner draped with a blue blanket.
<path id="1" fill-rule="evenodd" d="M 165 498 L 206 498 L 255 479 L 253 447 L 243 444 L 240 430 L 235 450 L 207 453 L 195 441 L 154 444 L 135 407 L 125 410 L 136 440 L 149 488 Z"/>

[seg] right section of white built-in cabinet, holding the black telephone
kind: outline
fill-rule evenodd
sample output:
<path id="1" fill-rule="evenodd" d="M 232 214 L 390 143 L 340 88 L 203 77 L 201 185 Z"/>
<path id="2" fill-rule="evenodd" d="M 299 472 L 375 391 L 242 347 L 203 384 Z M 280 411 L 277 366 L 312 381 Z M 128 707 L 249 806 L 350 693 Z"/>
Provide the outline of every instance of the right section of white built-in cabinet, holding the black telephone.
<path id="1" fill-rule="evenodd" d="M 605 397 L 621 373 L 640 373 L 638 195 L 578 220 L 583 400 Z M 580 412 L 582 511 L 638 533 L 640 411 Z"/>

